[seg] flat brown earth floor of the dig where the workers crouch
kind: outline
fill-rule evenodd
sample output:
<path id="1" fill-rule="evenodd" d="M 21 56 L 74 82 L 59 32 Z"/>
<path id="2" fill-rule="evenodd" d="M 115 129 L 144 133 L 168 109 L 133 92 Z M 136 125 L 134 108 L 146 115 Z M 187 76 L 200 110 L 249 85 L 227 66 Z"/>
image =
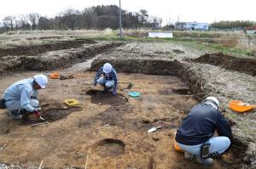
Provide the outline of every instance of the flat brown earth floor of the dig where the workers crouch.
<path id="1" fill-rule="evenodd" d="M 5 76 L 1 89 L 33 74 Z M 128 98 L 126 84 L 119 85 L 116 97 L 91 93 L 94 76 L 95 72 L 86 72 L 65 81 L 49 80 L 39 94 L 48 126 L 30 127 L 31 123 L 13 121 L 0 110 L 0 145 L 7 144 L 1 163 L 26 168 L 43 160 L 43 168 L 84 168 L 88 155 L 88 168 L 202 167 L 183 161 L 183 154 L 172 148 L 173 133 L 197 103 L 188 91 L 179 90 L 186 85 L 177 76 L 119 73 L 119 81 L 132 82 L 131 90 L 142 93 L 138 99 Z M 78 99 L 83 109 L 65 109 L 62 103 L 68 98 Z M 162 128 L 147 132 L 156 126 Z M 233 168 L 227 163 L 233 161 L 232 155 L 215 161 L 212 168 Z"/>

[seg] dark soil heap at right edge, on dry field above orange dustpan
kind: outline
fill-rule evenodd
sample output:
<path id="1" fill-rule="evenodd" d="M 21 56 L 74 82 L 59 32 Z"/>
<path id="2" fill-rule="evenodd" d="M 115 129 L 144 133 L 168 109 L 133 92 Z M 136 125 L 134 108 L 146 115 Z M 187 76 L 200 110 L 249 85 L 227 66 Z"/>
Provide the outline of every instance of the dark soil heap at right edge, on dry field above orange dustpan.
<path id="1" fill-rule="evenodd" d="M 227 70 L 241 71 L 256 76 L 256 59 L 235 58 L 227 54 L 204 54 L 199 58 L 190 59 L 197 63 L 222 66 Z"/>

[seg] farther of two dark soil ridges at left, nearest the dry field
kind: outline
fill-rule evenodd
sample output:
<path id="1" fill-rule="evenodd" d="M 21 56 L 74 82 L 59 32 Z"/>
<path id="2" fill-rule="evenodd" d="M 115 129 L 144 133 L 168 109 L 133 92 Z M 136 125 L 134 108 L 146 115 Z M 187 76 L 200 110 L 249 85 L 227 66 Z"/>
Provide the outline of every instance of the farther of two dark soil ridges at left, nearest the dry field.
<path id="1" fill-rule="evenodd" d="M 43 54 L 49 51 L 69 49 L 69 48 L 81 48 L 85 44 L 96 43 L 92 40 L 73 40 L 73 41 L 58 41 L 52 44 L 40 44 L 33 46 L 16 46 L 13 48 L 0 48 L 0 58 L 7 55 L 26 55 L 34 56 L 37 54 Z"/>

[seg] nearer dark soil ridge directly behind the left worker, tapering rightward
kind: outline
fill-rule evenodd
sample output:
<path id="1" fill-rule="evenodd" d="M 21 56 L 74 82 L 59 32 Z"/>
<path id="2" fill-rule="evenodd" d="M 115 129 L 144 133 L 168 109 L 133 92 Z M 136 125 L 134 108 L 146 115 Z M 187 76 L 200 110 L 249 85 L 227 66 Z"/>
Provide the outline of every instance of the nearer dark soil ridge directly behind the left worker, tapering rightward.
<path id="1" fill-rule="evenodd" d="M 96 54 L 101 54 L 115 48 L 123 43 L 108 42 L 86 45 L 83 48 L 61 50 L 48 52 L 34 56 L 8 56 L 3 57 L 0 61 L 0 75 L 10 74 L 20 70 L 55 70 L 56 68 L 65 68 L 77 63 L 90 59 Z"/>

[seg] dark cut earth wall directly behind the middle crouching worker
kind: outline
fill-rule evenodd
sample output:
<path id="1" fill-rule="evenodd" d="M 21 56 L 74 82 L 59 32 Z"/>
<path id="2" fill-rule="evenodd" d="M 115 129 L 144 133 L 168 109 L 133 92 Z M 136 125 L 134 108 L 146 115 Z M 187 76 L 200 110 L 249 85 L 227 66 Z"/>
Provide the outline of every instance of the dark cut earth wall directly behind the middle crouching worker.
<path id="1" fill-rule="evenodd" d="M 118 72 L 143 73 L 149 75 L 172 75 L 177 76 L 182 64 L 177 60 L 154 60 L 154 59 L 95 59 L 90 70 L 96 71 L 106 62 L 113 65 Z"/>

